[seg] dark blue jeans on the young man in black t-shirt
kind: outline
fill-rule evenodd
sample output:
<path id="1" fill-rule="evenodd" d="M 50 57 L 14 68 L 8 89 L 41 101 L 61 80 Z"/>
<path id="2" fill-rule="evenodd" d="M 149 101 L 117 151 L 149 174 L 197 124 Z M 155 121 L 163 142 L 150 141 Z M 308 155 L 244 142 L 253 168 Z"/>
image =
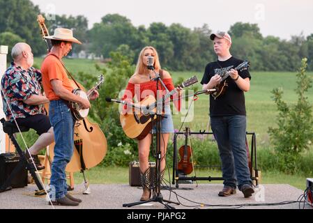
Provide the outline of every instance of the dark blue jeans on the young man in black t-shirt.
<path id="1" fill-rule="evenodd" d="M 211 117 L 211 128 L 217 141 L 222 160 L 224 185 L 236 189 L 244 184 L 252 185 L 245 150 L 245 116 Z"/>

